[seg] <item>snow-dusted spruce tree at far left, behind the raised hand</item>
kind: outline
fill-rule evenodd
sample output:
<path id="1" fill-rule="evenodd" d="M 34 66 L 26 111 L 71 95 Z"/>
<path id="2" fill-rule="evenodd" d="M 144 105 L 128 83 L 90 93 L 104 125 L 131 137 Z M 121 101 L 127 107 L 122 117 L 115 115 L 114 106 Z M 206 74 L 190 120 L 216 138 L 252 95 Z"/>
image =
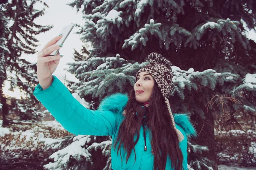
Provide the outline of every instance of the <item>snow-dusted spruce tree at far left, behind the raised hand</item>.
<path id="1" fill-rule="evenodd" d="M 35 4 L 42 3 L 42 9 L 36 9 Z M 0 3 L 1 22 L 6 20 L 7 28 L 1 31 L 0 40 L 5 43 L 5 50 L 0 52 L 1 55 L 1 74 L 0 74 L 0 103 L 2 106 L 3 126 L 9 124 L 6 119 L 8 114 L 8 105 L 6 104 L 6 96 L 3 95 L 2 87 L 4 81 L 11 83 L 9 90 L 18 87 L 26 93 L 27 103 L 20 101 L 20 113 L 29 113 L 25 117 L 27 119 L 40 119 L 42 114 L 38 114 L 38 101 L 32 95 L 33 89 L 37 81 L 36 63 L 30 63 L 25 59 L 21 59 L 21 54 L 34 54 L 38 46 L 38 40 L 35 35 L 48 31 L 52 26 L 41 26 L 35 24 L 37 17 L 44 15 L 47 4 L 41 0 L 9 0 Z M 7 22 L 8 21 L 8 22 Z M 3 47 L 3 46 L 2 46 Z M 30 109 L 26 109 L 30 108 Z M 31 110 L 31 109 L 34 110 Z M 10 108 L 9 108 L 10 109 Z M 23 117 L 23 118 L 25 118 Z"/>

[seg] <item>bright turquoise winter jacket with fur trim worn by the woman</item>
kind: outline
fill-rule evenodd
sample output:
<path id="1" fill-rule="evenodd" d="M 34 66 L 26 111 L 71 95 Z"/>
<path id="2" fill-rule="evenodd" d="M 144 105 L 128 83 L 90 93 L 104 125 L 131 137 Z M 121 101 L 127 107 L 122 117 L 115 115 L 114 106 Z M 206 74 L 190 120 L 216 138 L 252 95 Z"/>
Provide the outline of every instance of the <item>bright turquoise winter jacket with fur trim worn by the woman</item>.
<path id="1" fill-rule="evenodd" d="M 42 89 L 38 84 L 34 91 L 35 97 L 48 109 L 48 111 L 60 122 L 70 133 L 75 135 L 110 135 L 115 141 L 119 126 L 124 119 L 122 112 L 128 102 L 126 94 L 113 94 L 102 100 L 96 111 L 89 110 L 81 105 L 66 88 L 66 86 L 55 76 L 52 85 Z M 186 114 L 174 114 L 177 129 L 183 133 L 184 140 L 179 146 L 183 153 L 183 168 L 187 170 L 187 136 L 195 136 L 196 132 L 189 122 Z M 150 129 L 145 130 L 147 150 L 144 150 L 143 127 L 140 129 L 140 137 L 134 150 L 126 163 L 124 149 L 121 148 L 117 155 L 117 149 L 111 147 L 111 168 L 113 170 L 153 170 L 154 155 L 151 153 Z M 113 142 L 114 143 L 114 142 Z M 113 144 L 112 144 L 113 145 Z M 120 152 L 120 151 L 119 151 Z M 166 170 L 171 169 L 171 160 L 168 156 Z"/>

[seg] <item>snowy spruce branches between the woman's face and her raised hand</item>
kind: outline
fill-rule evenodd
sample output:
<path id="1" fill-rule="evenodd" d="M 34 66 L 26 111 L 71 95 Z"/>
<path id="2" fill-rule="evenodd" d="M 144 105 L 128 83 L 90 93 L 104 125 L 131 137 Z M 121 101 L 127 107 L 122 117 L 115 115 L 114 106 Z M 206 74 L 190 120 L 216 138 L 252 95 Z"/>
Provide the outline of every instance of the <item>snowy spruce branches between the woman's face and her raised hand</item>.
<path id="1" fill-rule="evenodd" d="M 91 57 L 68 64 L 70 68 L 67 70 L 79 79 L 71 88 L 79 90 L 79 96 L 89 95 L 94 100 L 101 100 L 114 92 L 130 91 L 135 81 L 134 74 L 145 65 L 132 64 L 119 54 L 116 57 Z"/>

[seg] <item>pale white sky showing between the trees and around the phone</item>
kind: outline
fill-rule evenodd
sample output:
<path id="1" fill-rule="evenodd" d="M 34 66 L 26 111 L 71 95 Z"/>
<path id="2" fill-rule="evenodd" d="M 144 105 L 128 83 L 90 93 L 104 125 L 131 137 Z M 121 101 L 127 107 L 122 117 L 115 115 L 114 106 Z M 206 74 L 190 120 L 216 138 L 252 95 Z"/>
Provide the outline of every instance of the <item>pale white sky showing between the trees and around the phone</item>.
<path id="1" fill-rule="evenodd" d="M 40 45 L 38 46 L 37 51 L 40 51 L 49 40 L 57 36 L 64 26 L 69 25 L 71 23 L 83 25 L 81 12 L 77 13 L 76 8 L 71 8 L 70 6 L 67 6 L 67 4 L 73 2 L 73 0 L 44 0 L 44 2 L 47 3 L 49 8 L 46 8 L 45 14 L 41 17 L 38 17 L 35 20 L 35 23 L 41 25 L 53 25 L 54 27 L 50 31 L 47 31 L 43 34 L 36 36 L 36 38 L 40 41 Z M 38 4 L 39 5 L 36 6 L 36 8 L 40 9 L 42 5 L 40 3 Z M 67 79 L 71 81 L 77 81 L 77 79 L 72 74 L 68 73 L 67 71 L 64 71 L 64 68 L 67 68 L 68 66 L 66 65 L 67 62 L 73 61 L 73 49 L 75 48 L 76 50 L 80 50 L 81 45 L 83 44 L 79 39 L 79 35 L 74 34 L 77 30 L 78 28 L 74 28 L 73 31 L 70 33 L 69 37 L 67 37 L 67 40 L 64 42 L 64 45 L 60 50 L 60 54 L 63 54 L 64 57 L 61 58 L 56 71 L 53 73 L 64 84 L 65 76 Z M 256 33 L 254 31 L 249 31 L 248 37 L 256 41 Z M 37 62 L 37 54 L 23 54 L 21 57 L 30 62 Z M 4 94 L 7 94 L 9 96 L 15 96 L 18 99 L 20 99 L 21 94 L 18 89 L 15 89 L 15 91 L 12 92 L 8 91 L 8 88 L 9 83 L 7 82 L 6 87 L 3 88 Z"/>

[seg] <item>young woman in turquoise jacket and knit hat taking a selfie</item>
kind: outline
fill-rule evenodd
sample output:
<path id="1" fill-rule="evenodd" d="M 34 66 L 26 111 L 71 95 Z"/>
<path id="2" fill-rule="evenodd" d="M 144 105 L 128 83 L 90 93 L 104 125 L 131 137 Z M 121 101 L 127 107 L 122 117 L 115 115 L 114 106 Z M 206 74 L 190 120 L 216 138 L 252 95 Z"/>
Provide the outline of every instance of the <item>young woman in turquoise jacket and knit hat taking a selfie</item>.
<path id="1" fill-rule="evenodd" d="M 185 114 L 172 114 L 171 63 L 152 53 L 136 75 L 129 96 L 113 94 L 96 111 L 84 108 L 61 81 L 52 76 L 60 56 L 55 37 L 38 53 L 39 84 L 34 95 L 55 119 L 76 135 L 110 135 L 113 170 L 187 170 L 187 136 L 196 132 Z"/>

